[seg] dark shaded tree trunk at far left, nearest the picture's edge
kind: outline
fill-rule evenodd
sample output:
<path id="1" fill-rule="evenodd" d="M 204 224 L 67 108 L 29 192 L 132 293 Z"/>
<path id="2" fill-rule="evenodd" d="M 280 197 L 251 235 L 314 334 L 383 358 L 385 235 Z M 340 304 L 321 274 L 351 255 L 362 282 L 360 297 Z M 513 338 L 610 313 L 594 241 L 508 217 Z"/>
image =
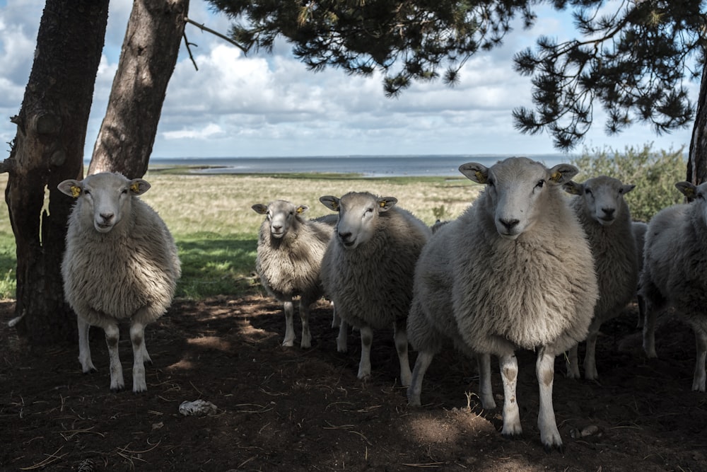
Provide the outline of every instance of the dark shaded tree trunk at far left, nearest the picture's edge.
<path id="1" fill-rule="evenodd" d="M 81 178 L 108 0 L 47 0 L 9 159 L 5 190 L 17 252 L 18 332 L 31 344 L 76 338 L 64 301 L 61 260 L 71 199 L 57 190 Z"/>

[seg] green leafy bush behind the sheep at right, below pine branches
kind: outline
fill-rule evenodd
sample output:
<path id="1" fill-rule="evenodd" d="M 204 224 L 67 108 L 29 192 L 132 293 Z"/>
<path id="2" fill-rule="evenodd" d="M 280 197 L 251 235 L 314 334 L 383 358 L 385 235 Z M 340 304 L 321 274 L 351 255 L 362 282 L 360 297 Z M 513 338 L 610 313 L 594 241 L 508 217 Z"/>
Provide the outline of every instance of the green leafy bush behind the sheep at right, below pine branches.
<path id="1" fill-rule="evenodd" d="M 661 209 L 683 201 L 675 183 L 685 180 L 684 147 L 677 151 L 653 151 L 652 144 L 645 144 L 642 149 L 626 146 L 623 153 L 609 148 L 584 149 L 571 163 L 580 169 L 575 178 L 578 182 L 609 175 L 636 185 L 626 195 L 634 220 L 648 221 Z"/>

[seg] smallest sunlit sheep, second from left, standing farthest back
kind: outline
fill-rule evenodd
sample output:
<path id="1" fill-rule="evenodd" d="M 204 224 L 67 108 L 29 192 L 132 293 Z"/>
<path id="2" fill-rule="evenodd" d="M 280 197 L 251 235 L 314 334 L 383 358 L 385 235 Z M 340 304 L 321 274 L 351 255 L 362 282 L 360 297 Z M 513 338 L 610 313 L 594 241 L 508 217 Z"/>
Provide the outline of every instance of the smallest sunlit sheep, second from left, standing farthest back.
<path id="1" fill-rule="evenodd" d="M 309 207 L 286 200 L 274 200 L 267 205 L 257 203 L 252 209 L 266 215 L 258 234 L 255 270 L 267 292 L 283 304 L 285 338 L 282 345 L 294 345 L 293 298 L 300 297 L 300 347 L 312 347 L 310 306 L 322 297 L 320 266 L 334 231 L 334 221 L 327 224 L 305 219 L 303 214 Z"/>

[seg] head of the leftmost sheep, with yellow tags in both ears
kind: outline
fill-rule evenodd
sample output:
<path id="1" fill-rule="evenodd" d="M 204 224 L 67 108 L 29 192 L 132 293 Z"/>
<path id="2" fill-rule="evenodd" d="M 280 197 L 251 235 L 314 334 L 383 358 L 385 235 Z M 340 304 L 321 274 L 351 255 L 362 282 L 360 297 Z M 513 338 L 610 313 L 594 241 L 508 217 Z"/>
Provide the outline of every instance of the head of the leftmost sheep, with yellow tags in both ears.
<path id="1" fill-rule="evenodd" d="M 99 233 L 108 233 L 130 213 L 132 197 L 142 195 L 150 184 L 141 178 L 130 180 L 119 173 L 97 173 L 83 180 L 64 180 L 58 186 L 66 195 L 77 199 L 83 218 L 93 220 Z"/>

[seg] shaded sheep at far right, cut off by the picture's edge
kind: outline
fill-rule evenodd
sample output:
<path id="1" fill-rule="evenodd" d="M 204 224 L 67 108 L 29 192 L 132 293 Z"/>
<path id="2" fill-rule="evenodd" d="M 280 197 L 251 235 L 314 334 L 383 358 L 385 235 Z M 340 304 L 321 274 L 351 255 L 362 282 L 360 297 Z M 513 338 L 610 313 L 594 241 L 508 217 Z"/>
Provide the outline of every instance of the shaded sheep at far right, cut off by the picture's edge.
<path id="1" fill-rule="evenodd" d="M 707 357 L 707 183 L 675 184 L 687 204 L 660 210 L 645 233 L 641 294 L 645 299 L 643 349 L 655 354 L 655 317 L 673 306 L 694 330 L 697 359 L 692 389 L 705 391 Z"/>

